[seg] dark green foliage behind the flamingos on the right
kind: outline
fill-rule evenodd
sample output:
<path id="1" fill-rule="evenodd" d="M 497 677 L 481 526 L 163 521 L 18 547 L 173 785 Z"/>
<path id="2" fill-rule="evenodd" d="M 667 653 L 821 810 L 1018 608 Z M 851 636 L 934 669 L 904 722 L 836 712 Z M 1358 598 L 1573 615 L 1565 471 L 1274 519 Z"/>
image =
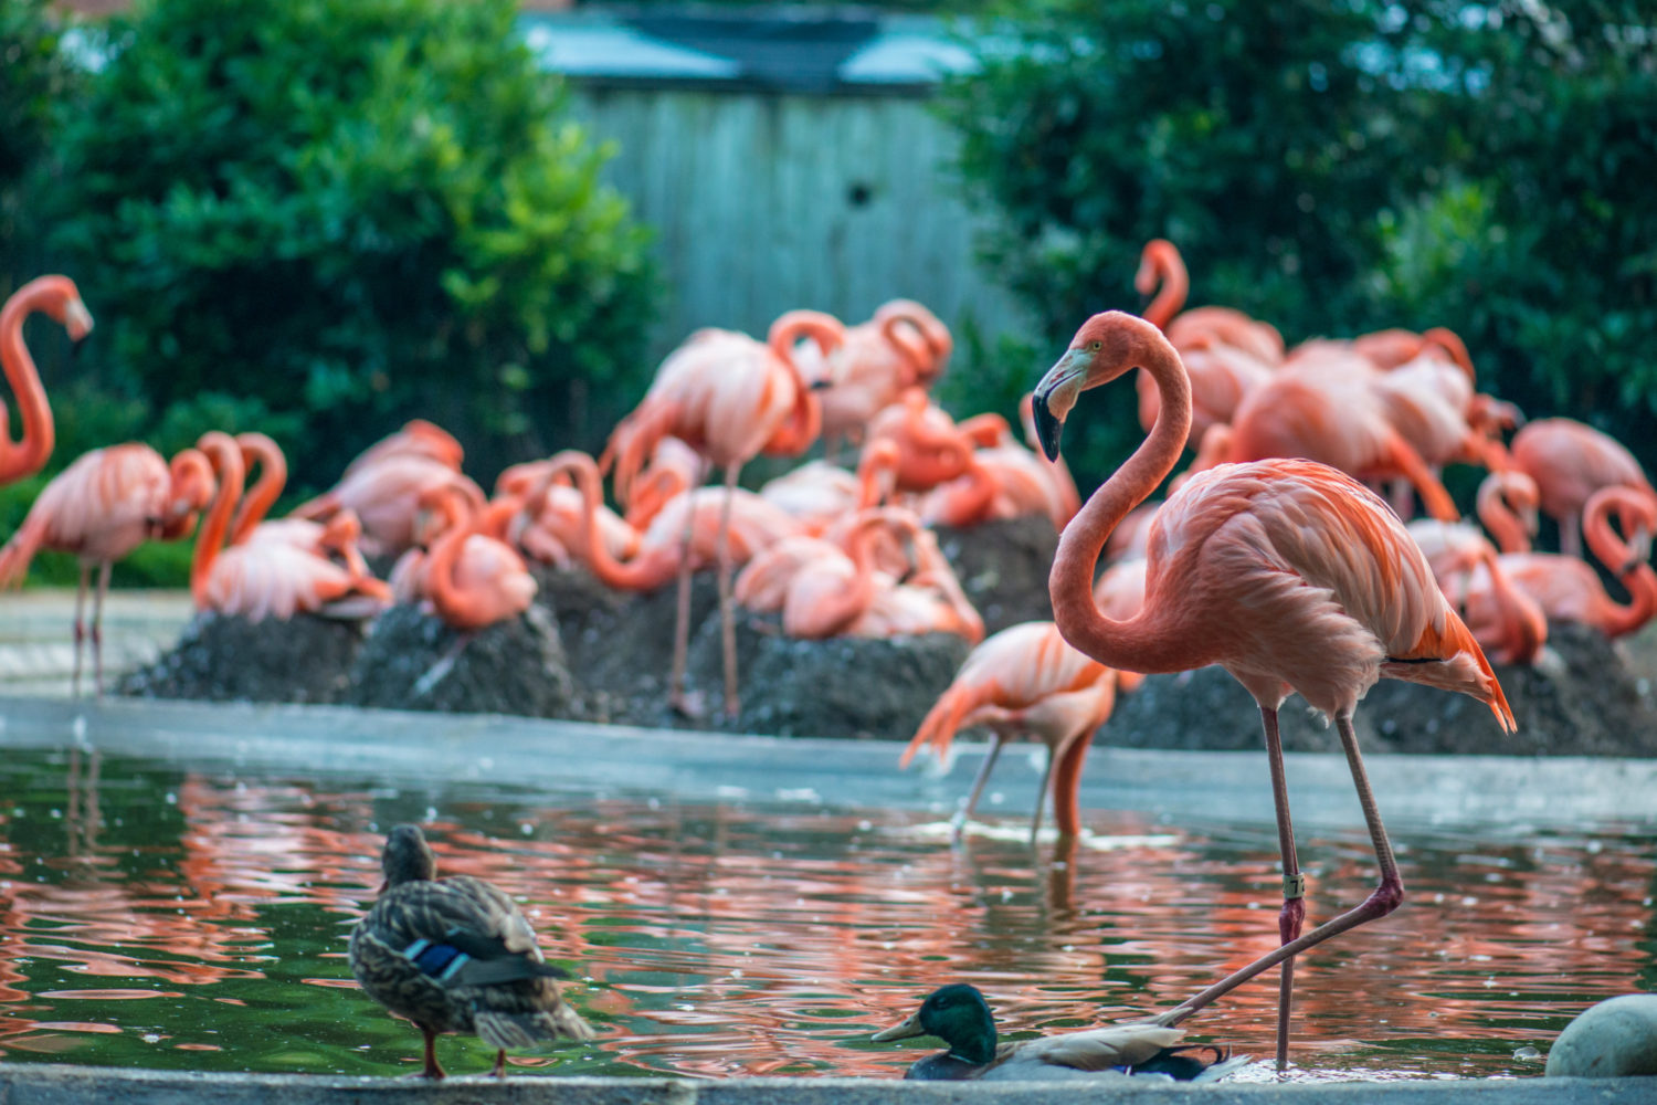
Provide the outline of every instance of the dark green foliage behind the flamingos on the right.
<path id="1" fill-rule="evenodd" d="M 1137 310 L 1140 247 L 1168 237 L 1193 305 L 1291 341 L 1450 325 L 1486 386 L 1533 413 L 1657 442 L 1640 7 L 1002 5 L 943 111 L 973 199 L 999 215 L 984 257 L 1051 355 L 1087 315 Z M 1130 399 L 1089 422 L 1092 467 L 1140 436 Z"/>

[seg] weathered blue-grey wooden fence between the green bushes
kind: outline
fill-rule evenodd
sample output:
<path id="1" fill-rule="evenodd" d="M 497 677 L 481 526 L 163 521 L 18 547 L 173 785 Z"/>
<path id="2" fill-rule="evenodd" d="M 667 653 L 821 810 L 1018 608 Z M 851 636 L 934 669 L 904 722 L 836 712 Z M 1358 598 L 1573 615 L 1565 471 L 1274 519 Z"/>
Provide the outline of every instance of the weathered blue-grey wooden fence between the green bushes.
<path id="1" fill-rule="evenodd" d="M 575 111 L 656 229 L 655 355 L 698 326 L 764 335 L 795 306 L 862 321 L 893 297 L 986 335 L 1021 321 L 974 263 L 954 136 L 925 99 L 610 84 L 577 88 Z"/>

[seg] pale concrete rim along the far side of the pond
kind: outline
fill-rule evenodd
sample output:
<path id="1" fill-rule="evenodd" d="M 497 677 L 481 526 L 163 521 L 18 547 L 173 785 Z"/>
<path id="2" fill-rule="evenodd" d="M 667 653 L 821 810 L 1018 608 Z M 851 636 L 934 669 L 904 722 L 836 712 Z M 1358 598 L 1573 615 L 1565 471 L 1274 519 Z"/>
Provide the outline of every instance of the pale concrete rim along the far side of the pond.
<path id="1" fill-rule="evenodd" d="M 956 744 L 940 770 L 898 770 L 886 741 L 736 736 L 492 714 L 343 706 L 63 701 L 0 696 L 0 747 L 103 749 L 181 764 L 398 782 L 509 784 L 552 792 L 668 792 L 686 800 L 809 802 L 948 812 L 986 746 Z M 1032 746 L 1002 755 L 998 812 L 1029 808 L 1041 769 Z M 1360 825 L 1344 757 L 1291 754 L 1297 822 Z M 1389 823 L 1645 823 L 1657 812 L 1657 759 L 1374 755 L 1365 760 Z M 1266 757 L 1095 746 L 1084 810 L 1205 822 L 1271 822 Z M 986 810 L 993 808 L 986 805 Z"/>

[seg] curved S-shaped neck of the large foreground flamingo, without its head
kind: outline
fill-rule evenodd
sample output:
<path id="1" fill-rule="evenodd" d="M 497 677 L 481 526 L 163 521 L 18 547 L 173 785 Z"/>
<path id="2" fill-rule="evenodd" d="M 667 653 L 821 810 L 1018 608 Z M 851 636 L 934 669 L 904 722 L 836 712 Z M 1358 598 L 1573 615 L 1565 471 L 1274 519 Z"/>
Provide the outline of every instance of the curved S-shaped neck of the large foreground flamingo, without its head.
<path id="1" fill-rule="evenodd" d="M 1157 381 L 1162 408 L 1150 436 L 1064 527 L 1052 573 L 1047 577 L 1047 591 L 1059 633 L 1107 668 L 1142 673 L 1185 671 L 1213 659 L 1193 658 L 1188 644 L 1178 641 L 1180 635 L 1158 631 L 1157 623 L 1163 613 L 1152 596 L 1147 595 L 1140 613 L 1127 621 L 1107 618 L 1094 601 L 1094 573 L 1110 530 L 1127 517 L 1128 510 L 1145 502 L 1157 484 L 1173 470 L 1191 432 L 1191 383 L 1180 355 L 1160 331 L 1150 330 L 1130 315 L 1120 318 L 1125 320 L 1123 325 L 1132 325 L 1132 340 L 1127 343 L 1120 369 L 1128 371 L 1137 366 L 1150 373 Z"/>

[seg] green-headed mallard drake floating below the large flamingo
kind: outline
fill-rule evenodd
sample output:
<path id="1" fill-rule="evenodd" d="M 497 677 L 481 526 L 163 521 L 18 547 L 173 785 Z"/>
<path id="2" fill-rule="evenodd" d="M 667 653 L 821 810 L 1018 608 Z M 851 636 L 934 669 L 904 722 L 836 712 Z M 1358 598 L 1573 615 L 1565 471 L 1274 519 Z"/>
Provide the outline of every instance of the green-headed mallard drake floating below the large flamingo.
<path id="1" fill-rule="evenodd" d="M 1148 1074 L 1180 1082 L 1216 1082 L 1249 1062 L 1248 1055 L 1229 1059 L 1211 1044 L 1178 1047 L 1185 1030 L 1155 1024 L 1117 1024 L 996 1044 L 996 1017 L 989 1004 L 978 987 L 964 982 L 935 989 L 920 1011 L 873 1039 L 901 1040 L 911 1035 L 936 1035 L 949 1050 L 921 1059 L 905 1078 L 1049 1082 Z M 1198 1050 L 1211 1050 L 1213 1062 L 1191 1054 Z"/>

